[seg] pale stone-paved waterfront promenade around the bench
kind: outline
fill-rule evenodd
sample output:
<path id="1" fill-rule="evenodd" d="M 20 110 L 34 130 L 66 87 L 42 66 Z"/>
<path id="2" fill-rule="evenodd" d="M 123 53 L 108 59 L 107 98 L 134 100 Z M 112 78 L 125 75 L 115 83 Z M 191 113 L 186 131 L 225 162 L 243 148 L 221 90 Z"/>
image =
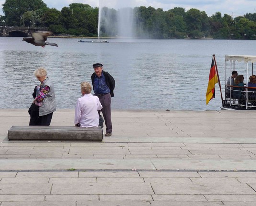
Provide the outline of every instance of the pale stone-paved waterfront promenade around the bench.
<path id="1" fill-rule="evenodd" d="M 103 142 L 9 142 L 29 116 L 0 109 L 0 206 L 255 206 L 255 115 L 113 111 Z"/>

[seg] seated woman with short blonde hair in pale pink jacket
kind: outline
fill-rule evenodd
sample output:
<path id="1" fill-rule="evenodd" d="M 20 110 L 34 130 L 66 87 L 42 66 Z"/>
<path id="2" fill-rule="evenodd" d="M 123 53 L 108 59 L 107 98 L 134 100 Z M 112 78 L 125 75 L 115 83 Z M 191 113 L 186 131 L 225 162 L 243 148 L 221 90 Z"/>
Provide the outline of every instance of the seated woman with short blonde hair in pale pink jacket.
<path id="1" fill-rule="evenodd" d="M 97 96 L 91 94 L 92 87 L 88 82 L 81 83 L 82 97 L 77 100 L 75 109 L 75 126 L 98 127 L 99 110 L 102 105 Z"/>

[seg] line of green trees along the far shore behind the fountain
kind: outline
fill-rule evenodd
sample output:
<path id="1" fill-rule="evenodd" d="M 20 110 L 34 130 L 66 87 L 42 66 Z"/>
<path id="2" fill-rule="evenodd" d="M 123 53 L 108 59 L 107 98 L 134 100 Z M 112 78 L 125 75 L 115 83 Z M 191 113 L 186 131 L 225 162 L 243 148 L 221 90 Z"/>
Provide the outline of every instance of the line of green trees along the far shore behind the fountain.
<path id="1" fill-rule="evenodd" d="M 152 39 L 256 39 L 256 13 L 246 13 L 233 18 L 228 14 L 216 12 L 208 16 L 205 11 L 192 8 L 175 7 L 168 11 L 153 7 L 129 8 L 133 13 L 134 37 Z M 117 35 L 118 11 L 111 11 L 111 34 L 104 24 L 100 31 L 102 37 Z M 4 16 L 0 24 L 8 26 L 47 27 L 55 35 L 96 37 L 98 33 L 98 7 L 88 4 L 72 3 L 61 11 L 48 8 L 42 0 L 6 0 L 3 4 Z M 108 28 L 109 31 L 109 28 Z"/>

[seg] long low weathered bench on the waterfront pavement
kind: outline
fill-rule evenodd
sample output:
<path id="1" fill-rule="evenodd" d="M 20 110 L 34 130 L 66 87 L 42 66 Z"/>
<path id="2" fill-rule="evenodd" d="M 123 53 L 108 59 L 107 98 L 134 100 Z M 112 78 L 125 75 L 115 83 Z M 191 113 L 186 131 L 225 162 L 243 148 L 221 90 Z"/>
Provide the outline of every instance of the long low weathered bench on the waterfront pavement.
<path id="1" fill-rule="evenodd" d="M 12 126 L 9 141 L 102 141 L 102 127 Z"/>

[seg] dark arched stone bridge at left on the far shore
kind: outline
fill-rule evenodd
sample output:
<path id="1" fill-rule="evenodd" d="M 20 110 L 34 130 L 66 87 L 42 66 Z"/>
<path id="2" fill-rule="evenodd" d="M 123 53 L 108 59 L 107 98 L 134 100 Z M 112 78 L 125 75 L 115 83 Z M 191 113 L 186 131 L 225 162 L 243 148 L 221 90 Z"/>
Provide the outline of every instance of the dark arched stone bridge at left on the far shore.
<path id="1" fill-rule="evenodd" d="M 17 27 L 17 26 L 0 26 L 0 36 L 19 36 L 28 37 L 31 33 L 40 30 L 48 30 L 46 27 Z"/>

